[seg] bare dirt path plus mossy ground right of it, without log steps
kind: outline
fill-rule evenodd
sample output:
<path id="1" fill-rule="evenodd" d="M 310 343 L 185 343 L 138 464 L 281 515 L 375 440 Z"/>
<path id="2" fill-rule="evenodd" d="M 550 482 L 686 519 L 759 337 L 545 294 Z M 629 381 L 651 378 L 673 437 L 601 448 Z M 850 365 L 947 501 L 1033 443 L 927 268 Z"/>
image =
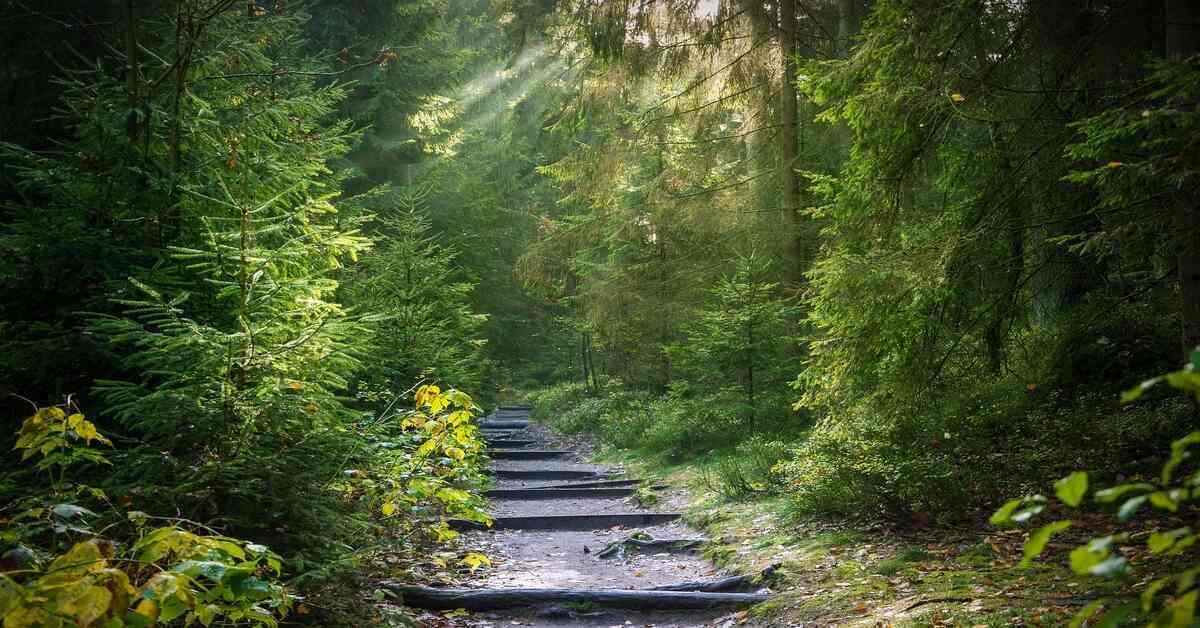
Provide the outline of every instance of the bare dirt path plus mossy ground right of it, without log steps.
<path id="1" fill-rule="evenodd" d="M 509 436 L 514 438 L 514 436 Z M 653 507 L 644 500 L 492 500 L 494 516 L 551 516 L 673 512 L 682 519 L 644 527 L 595 530 L 498 530 L 462 534 L 463 549 L 493 562 L 460 588 L 562 587 L 643 590 L 684 581 L 713 581 L 730 574 L 757 574 L 781 566 L 752 588 L 772 593 L 750 609 L 629 611 L 586 604 L 544 605 L 504 611 L 418 611 L 422 626 L 482 628 L 600 627 L 823 627 L 823 626 L 1064 626 L 1102 594 L 1129 593 L 1122 586 L 1074 576 L 1054 561 L 1015 568 L 1022 531 L 997 531 L 983 522 L 956 527 L 895 527 L 870 521 L 787 524 L 780 498 L 722 500 L 704 489 L 694 465 L 662 467 L 636 459 L 602 457 L 586 441 L 557 436 L 530 424 L 520 438 L 527 449 L 570 451 L 557 460 L 496 460 L 493 469 L 583 471 L 608 478 L 637 477 L 656 485 Z M 498 479 L 496 489 L 544 489 L 587 483 Z M 646 495 L 647 490 L 640 491 Z M 1078 536 L 1102 533 L 1108 520 L 1079 521 Z M 703 538 L 701 554 L 635 554 L 600 558 L 611 542 L 634 532 L 655 539 Z M 1056 539 L 1051 549 L 1073 540 Z M 1138 563 L 1141 557 L 1130 556 Z"/>

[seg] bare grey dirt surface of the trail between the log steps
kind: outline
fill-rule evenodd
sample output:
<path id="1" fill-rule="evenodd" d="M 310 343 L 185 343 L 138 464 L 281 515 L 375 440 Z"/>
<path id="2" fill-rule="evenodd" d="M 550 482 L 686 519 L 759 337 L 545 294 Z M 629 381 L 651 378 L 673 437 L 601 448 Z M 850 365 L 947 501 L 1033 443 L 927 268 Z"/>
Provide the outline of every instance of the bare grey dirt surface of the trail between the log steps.
<path id="1" fill-rule="evenodd" d="M 586 461 L 586 451 L 571 447 L 536 424 L 517 430 L 512 421 L 527 421 L 526 408 L 503 408 L 490 415 L 487 426 L 504 421 L 505 430 L 494 438 L 529 441 L 523 449 L 564 450 L 562 456 L 548 460 L 493 460 L 493 469 L 515 472 L 569 471 L 594 474 L 593 478 L 572 479 L 506 479 L 499 478 L 496 489 L 544 489 L 589 484 L 606 479 L 628 479 L 620 468 L 604 467 Z M 505 445 L 508 447 L 508 445 Z M 588 486 L 584 486 L 588 488 Z M 602 489 L 604 485 L 594 486 Z M 611 489 L 608 489 L 611 491 Z M 494 518 L 554 518 L 563 515 L 642 514 L 653 510 L 641 508 L 632 497 L 594 497 L 586 491 L 572 490 L 570 497 L 553 498 L 493 498 Z M 606 494 L 598 494 L 606 495 Z M 611 495 L 607 494 L 607 495 Z M 542 497 L 542 496 L 540 496 Z M 530 521 L 523 519 L 522 521 Z M 540 524 L 533 520 L 533 526 Z M 592 526 L 571 525 L 574 530 L 488 530 L 463 533 L 466 546 L 485 551 L 493 561 L 490 569 L 466 586 L 472 590 L 511 588 L 564 588 L 564 590 L 648 590 L 682 582 L 712 582 L 727 575 L 719 573 L 695 551 L 626 551 L 622 556 L 601 558 L 598 556 L 610 543 L 620 542 L 641 532 L 654 539 L 698 539 L 701 534 L 682 521 L 650 526 Z M 584 527 L 586 530 L 580 530 Z M 755 587 L 749 587 L 755 591 Z M 739 592 L 748 592 L 742 587 Z M 757 590 L 762 593 L 766 590 Z M 696 593 L 697 597 L 707 596 Z M 719 594 L 718 594 L 719 596 Z M 718 597 L 714 596 L 714 597 Z M 707 599 L 707 598 L 701 598 Z M 742 604 L 744 606 L 744 604 Z M 653 611 L 611 609 L 589 603 L 559 604 L 554 602 L 533 608 L 506 610 L 480 610 L 469 617 L 456 620 L 455 626 L 503 627 L 528 626 L 541 628 L 594 628 L 617 626 L 653 626 L 656 628 L 725 627 L 736 626 L 740 617 L 738 606 L 722 605 L 706 610 L 661 609 Z"/>

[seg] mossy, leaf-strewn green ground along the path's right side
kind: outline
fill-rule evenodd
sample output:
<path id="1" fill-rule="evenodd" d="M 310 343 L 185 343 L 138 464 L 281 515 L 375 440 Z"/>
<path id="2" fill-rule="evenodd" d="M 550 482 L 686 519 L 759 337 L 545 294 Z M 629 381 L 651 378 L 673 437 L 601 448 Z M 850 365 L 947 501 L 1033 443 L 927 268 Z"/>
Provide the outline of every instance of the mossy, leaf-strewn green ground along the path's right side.
<path id="1" fill-rule="evenodd" d="M 779 596 L 748 616 L 762 626 L 1066 626 L 1093 599 L 1122 593 L 1066 567 L 1062 550 L 1082 536 L 1056 538 L 1055 557 L 1019 568 L 1025 531 L 798 521 L 784 497 L 713 494 L 700 465 L 601 455 L 678 491 L 689 524 L 713 539 L 706 555 L 715 563 L 739 573 L 780 566 L 770 582 Z"/>

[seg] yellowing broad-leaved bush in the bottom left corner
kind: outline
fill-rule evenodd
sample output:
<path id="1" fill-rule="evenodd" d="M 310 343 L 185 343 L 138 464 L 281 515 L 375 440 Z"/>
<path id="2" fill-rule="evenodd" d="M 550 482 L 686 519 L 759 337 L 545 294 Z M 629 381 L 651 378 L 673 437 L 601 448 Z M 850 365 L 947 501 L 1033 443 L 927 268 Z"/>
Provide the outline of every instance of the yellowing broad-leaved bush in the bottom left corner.
<path id="1" fill-rule="evenodd" d="M 101 489 L 68 483 L 89 465 L 109 465 L 91 443 L 112 443 L 67 409 L 38 408 L 17 441 L 22 460 L 36 457 L 34 469 L 52 484 L 0 510 L 4 626 L 277 626 L 294 602 L 280 582 L 280 556 L 193 522 L 124 510 Z M 73 503 L 79 498 L 108 507 L 104 528 L 92 528 L 102 515 Z M 127 543 L 114 540 L 120 532 Z"/>

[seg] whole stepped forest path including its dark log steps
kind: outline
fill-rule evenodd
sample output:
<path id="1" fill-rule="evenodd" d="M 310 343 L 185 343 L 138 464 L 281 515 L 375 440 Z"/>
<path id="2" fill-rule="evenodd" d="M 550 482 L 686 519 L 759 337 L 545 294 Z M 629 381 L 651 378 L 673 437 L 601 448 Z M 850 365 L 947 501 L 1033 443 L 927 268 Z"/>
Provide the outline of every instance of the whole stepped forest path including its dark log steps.
<path id="1" fill-rule="evenodd" d="M 404 593 L 407 604 L 442 609 L 491 606 L 496 600 L 522 604 L 478 608 L 445 623 L 473 628 L 684 628 L 734 626 L 744 618 L 739 609 L 766 597 L 749 582 L 722 580 L 700 556 L 700 543 L 638 546 L 601 557 L 610 544 L 635 533 L 658 540 L 703 538 L 678 514 L 638 506 L 632 496 L 636 479 L 625 478 L 620 468 L 587 462 L 586 448 L 533 424 L 528 408 L 502 407 L 481 427 L 493 443 L 490 471 L 496 486 L 488 496 L 494 522 L 491 530 L 472 530 L 469 522 L 461 527 L 464 546 L 485 552 L 493 564 L 469 588 L 422 590 L 432 599 L 410 591 Z M 672 585 L 683 586 L 674 592 L 648 591 Z M 704 585 L 720 592 L 697 591 Z M 457 597 L 443 599 L 446 596 Z"/>

